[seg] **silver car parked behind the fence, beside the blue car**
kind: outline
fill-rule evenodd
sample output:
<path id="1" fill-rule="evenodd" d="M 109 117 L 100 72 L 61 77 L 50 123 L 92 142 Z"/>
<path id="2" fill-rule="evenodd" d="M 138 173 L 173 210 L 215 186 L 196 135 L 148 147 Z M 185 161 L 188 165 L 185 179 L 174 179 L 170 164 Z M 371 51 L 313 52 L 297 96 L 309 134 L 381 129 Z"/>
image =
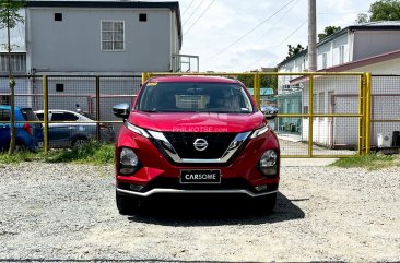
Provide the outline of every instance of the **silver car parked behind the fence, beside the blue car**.
<path id="1" fill-rule="evenodd" d="M 35 111 L 40 120 L 44 120 L 44 111 Z M 48 111 L 48 136 L 50 147 L 73 147 L 82 145 L 90 140 L 95 140 L 97 134 L 96 121 L 87 115 L 63 109 Z M 51 123 L 54 122 L 54 123 Z M 111 143 L 115 141 L 113 125 L 99 123 L 101 142 Z"/>

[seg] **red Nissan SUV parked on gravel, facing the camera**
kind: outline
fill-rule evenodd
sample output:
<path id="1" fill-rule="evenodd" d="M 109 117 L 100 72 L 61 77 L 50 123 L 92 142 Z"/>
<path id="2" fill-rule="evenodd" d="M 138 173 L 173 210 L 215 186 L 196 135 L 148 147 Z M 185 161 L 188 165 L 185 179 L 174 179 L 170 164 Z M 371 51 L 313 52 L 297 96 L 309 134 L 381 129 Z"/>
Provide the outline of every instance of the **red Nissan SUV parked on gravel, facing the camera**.
<path id="1" fill-rule="evenodd" d="M 120 214 L 137 212 L 156 194 L 242 194 L 259 210 L 274 207 L 280 148 L 267 119 L 238 81 L 165 76 L 143 84 L 116 144 L 116 201 Z"/>

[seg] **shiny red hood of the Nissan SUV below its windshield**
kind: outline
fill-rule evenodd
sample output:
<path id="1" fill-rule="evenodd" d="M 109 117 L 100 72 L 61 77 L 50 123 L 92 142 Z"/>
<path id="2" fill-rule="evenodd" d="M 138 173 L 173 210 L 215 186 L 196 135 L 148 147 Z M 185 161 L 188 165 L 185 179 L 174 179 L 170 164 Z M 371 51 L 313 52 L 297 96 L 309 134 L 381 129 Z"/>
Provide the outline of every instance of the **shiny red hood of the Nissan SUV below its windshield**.
<path id="1" fill-rule="evenodd" d="M 134 125 L 162 132 L 246 132 L 266 123 L 261 112 L 142 112 L 132 111 L 128 121 Z"/>

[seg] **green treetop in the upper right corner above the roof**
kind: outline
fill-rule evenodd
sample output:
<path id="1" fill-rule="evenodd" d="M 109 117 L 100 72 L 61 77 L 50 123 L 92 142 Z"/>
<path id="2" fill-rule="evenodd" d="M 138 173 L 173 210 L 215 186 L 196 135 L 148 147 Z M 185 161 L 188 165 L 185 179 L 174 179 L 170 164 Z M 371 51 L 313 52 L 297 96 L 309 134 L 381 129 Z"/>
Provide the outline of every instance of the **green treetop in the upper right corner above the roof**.
<path id="1" fill-rule="evenodd" d="M 370 4 L 370 21 L 396 21 L 400 20 L 399 0 L 379 0 Z"/>

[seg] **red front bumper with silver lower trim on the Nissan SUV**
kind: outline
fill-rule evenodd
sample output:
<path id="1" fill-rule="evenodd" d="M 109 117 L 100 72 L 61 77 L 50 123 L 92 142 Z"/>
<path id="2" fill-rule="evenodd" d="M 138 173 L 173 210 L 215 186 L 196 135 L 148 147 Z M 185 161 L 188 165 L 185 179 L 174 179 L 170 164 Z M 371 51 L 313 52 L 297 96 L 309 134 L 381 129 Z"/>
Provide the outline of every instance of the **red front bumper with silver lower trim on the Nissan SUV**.
<path id="1" fill-rule="evenodd" d="M 141 167 L 131 176 L 119 174 L 117 164 L 117 192 L 123 195 L 148 198 L 154 194 L 242 194 L 251 198 L 278 192 L 279 163 L 277 175 L 267 177 L 257 168 L 261 155 L 267 150 L 275 150 L 279 156 L 279 144 L 275 135 L 268 132 L 262 136 L 247 140 L 243 148 L 226 163 L 190 164 L 174 163 L 152 143 L 151 140 L 121 130 L 116 147 L 132 148 Z M 180 183 L 181 170 L 220 170 L 221 183 Z"/>

